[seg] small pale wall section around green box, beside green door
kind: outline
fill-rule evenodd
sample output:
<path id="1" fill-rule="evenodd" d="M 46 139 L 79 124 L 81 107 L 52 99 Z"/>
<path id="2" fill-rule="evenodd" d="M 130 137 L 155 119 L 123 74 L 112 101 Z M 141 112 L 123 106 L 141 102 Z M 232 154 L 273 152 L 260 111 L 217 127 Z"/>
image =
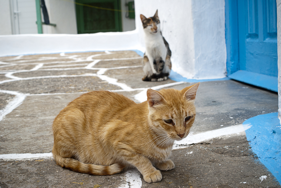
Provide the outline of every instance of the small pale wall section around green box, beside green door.
<path id="1" fill-rule="evenodd" d="M 136 29 L 135 19 L 128 18 L 128 13 L 125 12 L 126 10 L 128 10 L 128 6 L 126 6 L 126 3 L 130 1 L 133 0 L 121 0 L 121 10 L 124 10 L 123 12 L 121 12 L 123 31 L 132 31 Z"/>

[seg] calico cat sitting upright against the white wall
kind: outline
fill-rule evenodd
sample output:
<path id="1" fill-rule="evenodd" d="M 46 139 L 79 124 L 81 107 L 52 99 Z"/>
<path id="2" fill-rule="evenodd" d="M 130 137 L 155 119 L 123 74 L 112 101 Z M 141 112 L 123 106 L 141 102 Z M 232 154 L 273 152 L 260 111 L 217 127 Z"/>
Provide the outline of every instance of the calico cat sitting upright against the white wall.
<path id="1" fill-rule="evenodd" d="M 172 64 L 172 55 L 169 44 L 162 36 L 158 10 L 153 17 L 146 18 L 141 14 L 141 22 L 144 30 L 145 48 L 143 56 L 143 81 L 167 80 Z"/>

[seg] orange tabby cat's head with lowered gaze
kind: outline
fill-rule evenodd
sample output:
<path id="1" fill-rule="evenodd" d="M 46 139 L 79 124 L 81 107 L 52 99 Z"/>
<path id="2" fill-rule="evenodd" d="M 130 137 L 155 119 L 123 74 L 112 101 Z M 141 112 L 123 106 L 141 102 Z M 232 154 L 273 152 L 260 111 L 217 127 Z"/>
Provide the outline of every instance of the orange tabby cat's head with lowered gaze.
<path id="1" fill-rule="evenodd" d="M 151 128 L 172 140 L 185 138 L 195 120 L 194 100 L 200 83 L 182 90 L 148 89 L 147 101 Z"/>

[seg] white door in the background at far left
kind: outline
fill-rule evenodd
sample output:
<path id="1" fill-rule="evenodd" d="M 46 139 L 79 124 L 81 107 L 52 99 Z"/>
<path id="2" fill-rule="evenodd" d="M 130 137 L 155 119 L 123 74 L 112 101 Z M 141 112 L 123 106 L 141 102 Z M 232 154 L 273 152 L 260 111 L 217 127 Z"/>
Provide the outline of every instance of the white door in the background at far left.
<path id="1" fill-rule="evenodd" d="M 35 0 L 10 0 L 13 34 L 37 33 Z"/>

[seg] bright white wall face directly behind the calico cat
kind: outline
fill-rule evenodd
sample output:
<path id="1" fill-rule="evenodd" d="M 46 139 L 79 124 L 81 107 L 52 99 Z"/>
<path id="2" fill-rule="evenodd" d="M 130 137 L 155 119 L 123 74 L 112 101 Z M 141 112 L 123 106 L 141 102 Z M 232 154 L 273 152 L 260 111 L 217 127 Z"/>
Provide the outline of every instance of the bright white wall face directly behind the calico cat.
<path id="1" fill-rule="evenodd" d="M 140 14 L 151 17 L 158 9 L 162 35 L 172 52 L 172 69 L 187 78 L 192 78 L 194 73 L 191 2 L 191 0 L 135 0 L 136 28 L 139 29 L 141 45 L 145 46 Z"/>

